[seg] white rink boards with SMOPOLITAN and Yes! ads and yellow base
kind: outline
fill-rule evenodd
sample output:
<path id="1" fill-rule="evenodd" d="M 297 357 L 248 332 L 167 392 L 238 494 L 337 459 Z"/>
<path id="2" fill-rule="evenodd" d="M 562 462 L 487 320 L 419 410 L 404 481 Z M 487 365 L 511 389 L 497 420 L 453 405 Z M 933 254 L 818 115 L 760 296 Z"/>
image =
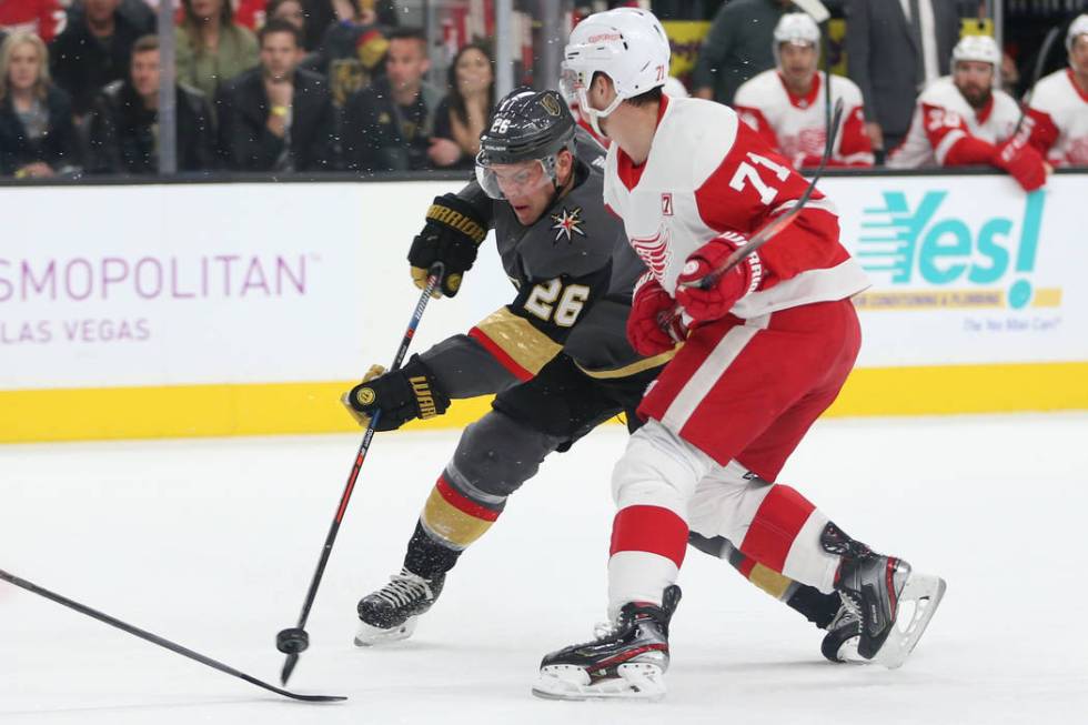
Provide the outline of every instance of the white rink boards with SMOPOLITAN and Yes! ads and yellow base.
<path id="1" fill-rule="evenodd" d="M 873 280 L 838 414 L 1088 407 L 1084 175 L 820 182 Z M 351 430 L 336 399 L 387 364 L 405 254 L 456 182 L 0 189 L 0 441 Z M 770 242 L 774 243 L 774 242 Z M 414 350 L 513 296 L 494 244 Z M 463 425 L 486 406 L 455 406 Z M 91 411 L 72 416 L 60 411 Z"/>

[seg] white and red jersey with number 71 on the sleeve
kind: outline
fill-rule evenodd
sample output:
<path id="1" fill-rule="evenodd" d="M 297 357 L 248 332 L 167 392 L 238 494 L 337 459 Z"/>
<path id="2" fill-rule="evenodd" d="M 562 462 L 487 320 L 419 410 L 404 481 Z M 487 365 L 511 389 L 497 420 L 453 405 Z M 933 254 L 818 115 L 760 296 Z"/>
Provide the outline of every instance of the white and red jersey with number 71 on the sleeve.
<path id="1" fill-rule="evenodd" d="M 608 149 L 604 199 L 646 266 L 675 295 L 692 252 L 724 231 L 750 236 L 790 209 L 807 185 L 733 109 L 664 98 L 644 164 L 635 167 L 618 144 Z M 816 191 L 794 223 L 757 252 L 762 281 L 733 314 L 755 318 L 867 288 L 838 233 L 834 205 Z"/>

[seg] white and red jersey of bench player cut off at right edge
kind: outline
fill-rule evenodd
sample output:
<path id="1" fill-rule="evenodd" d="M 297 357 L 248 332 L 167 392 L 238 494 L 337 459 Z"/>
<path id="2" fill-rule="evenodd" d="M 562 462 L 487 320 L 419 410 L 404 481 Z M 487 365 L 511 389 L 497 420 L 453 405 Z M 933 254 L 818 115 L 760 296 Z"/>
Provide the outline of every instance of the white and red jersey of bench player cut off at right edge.
<path id="1" fill-rule="evenodd" d="M 1088 92 L 1065 68 L 1035 85 L 1028 120 L 1029 143 L 1054 165 L 1088 164 Z"/>

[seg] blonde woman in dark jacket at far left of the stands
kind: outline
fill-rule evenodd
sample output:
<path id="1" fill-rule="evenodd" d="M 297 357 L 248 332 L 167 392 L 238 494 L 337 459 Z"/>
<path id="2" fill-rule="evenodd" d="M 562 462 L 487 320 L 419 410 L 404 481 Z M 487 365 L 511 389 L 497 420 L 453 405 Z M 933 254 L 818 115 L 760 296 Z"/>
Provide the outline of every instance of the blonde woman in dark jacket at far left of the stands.
<path id="1" fill-rule="evenodd" d="M 49 80 L 49 51 L 31 32 L 0 48 L 0 174 L 52 177 L 79 168 L 72 101 Z"/>

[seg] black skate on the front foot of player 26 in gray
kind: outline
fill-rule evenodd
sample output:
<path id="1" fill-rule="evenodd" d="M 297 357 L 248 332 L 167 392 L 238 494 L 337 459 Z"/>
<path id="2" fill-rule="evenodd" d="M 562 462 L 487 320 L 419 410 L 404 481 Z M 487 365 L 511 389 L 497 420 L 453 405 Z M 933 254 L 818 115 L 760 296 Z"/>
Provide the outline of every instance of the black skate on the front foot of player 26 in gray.
<path id="1" fill-rule="evenodd" d="M 439 598 L 444 582 L 445 574 L 426 580 L 406 568 L 390 576 L 389 584 L 359 601 L 355 645 L 369 647 L 412 636 L 416 621 Z"/>

